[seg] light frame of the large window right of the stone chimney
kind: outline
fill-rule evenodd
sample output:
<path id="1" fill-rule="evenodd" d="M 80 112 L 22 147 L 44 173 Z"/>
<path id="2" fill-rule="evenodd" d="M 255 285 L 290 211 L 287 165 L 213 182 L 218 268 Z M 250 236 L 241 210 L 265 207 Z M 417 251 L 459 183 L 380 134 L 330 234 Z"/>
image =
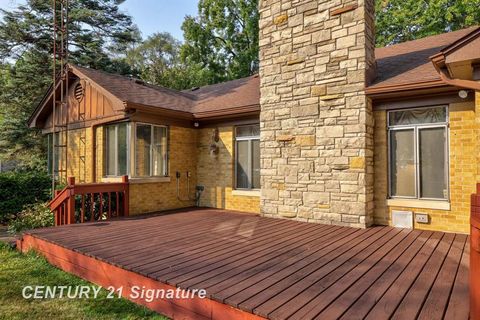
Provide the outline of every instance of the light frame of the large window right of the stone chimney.
<path id="1" fill-rule="evenodd" d="M 435 107 L 445 108 L 445 121 L 425 124 L 413 125 L 390 125 L 390 114 L 399 111 L 408 111 L 412 109 L 430 109 Z M 388 166 L 388 199 L 405 199 L 420 201 L 450 201 L 450 130 L 449 130 L 449 107 L 447 105 L 427 106 L 421 108 L 403 108 L 387 111 L 387 166 Z M 423 198 L 420 194 L 420 139 L 419 131 L 422 129 L 444 128 L 445 129 L 445 179 L 446 179 L 446 197 L 445 198 Z M 401 130 L 413 130 L 414 138 L 414 165 L 415 165 L 415 196 L 394 196 L 392 195 L 392 149 L 391 149 L 391 132 Z"/>

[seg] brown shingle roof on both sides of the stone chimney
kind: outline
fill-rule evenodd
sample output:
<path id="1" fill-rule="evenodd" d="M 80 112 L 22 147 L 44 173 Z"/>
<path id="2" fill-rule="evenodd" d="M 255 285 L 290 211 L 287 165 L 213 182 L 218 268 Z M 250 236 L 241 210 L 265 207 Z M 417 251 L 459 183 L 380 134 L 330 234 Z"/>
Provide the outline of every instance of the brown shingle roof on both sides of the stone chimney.
<path id="1" fill-rule="evenodd" d="M 369 89 L 440 80 L 430 57 L 478 27 L 408 41 L 375 50 L 377 76 Z M 176 91 L 128 77 L 74 66 L 122 101 L 159 107 L 194 115 L 222 112 L 236 114 L 260 104 L 260 79 L 257 75 L 195 90 Z"/>

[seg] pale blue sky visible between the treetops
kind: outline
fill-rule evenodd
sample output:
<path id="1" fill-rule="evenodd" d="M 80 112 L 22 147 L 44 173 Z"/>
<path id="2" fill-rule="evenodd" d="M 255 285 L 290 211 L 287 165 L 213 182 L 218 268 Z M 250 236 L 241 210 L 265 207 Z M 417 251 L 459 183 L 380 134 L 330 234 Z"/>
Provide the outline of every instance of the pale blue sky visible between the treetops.
<path id="1" fill-rule="evenodd" d="M 0 8 L 12 9 L 24 0 L 0 0 Z M 120 8 L 133 17 L 142 35 L 155 32 L 170 32 L 182 40 L 181 29 L 186 15 L 196 15 L 198 0 L 126 0 Z"/>

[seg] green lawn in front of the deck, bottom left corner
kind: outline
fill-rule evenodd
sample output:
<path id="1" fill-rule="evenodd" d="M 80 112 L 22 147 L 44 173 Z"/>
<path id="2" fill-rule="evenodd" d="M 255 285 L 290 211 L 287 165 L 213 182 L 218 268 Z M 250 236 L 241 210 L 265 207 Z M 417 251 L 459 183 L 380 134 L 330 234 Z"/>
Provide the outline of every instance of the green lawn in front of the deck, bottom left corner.
<path id="1" fill-rule="evenodd" d="M 35 253 L 21 254 L 0 243 L 0 319 L 162 319 L 167 318 L 126 299 L 24 299 L 24 286 L 92 286 L 50 265 Z"/>

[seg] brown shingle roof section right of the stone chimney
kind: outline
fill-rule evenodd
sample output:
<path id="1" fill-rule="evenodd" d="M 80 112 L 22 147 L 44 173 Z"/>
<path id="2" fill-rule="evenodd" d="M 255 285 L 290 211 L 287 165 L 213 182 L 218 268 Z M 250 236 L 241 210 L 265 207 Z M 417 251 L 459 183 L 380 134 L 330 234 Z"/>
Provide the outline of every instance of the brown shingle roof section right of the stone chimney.
<path id="1" fill-rule="evenodd" d="M 478 27 L 377 48 L 377 76 L 369 88 L 440 81 L 430 57 L 476 29 Z"/>

